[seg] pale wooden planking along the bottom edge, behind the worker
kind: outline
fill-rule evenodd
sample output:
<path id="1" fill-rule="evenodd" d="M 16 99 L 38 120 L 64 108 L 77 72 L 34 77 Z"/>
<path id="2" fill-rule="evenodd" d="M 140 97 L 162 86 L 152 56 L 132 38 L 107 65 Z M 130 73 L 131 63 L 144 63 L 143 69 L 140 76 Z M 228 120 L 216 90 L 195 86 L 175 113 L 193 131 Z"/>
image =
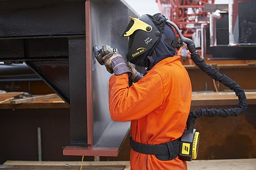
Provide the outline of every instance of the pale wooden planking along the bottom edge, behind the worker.
<path id="1" fill-rule="evenodd" d="M 4 166 L 29 166 L 30 169 L 79 169 L 81 162 L 57 162 L 57 161 L 6 161 Z M 190 170 L 255 170 L 256 169 L 256 159 L 233 159 L 233 160 L 193 160 L 192 162 L 187 162 L 188 169 Z M 40 168 L 43 167 L 43 168 Z M 129 161 L 100 161 L 100 162 L 83 162 L 83 169 L 105 169 L 106 167 L 117 168 L 122 166 L 125 170 L 130 169 Z M 32 168 L 34 167 L 34 168 Z M 36 167 L 36 168 L 35 168 Z M 51 167 L 51 168 L 49 168 Z M 61 167 L 61 168 L 59 168 Z M 4 168 L 3 168 L 4 169 Z M 15 168 L 13 168 L 15 169 Z M 28 168 L 27 168 L 28 169 Z M 25 170 L 25 169 L 20 169 Z"/>

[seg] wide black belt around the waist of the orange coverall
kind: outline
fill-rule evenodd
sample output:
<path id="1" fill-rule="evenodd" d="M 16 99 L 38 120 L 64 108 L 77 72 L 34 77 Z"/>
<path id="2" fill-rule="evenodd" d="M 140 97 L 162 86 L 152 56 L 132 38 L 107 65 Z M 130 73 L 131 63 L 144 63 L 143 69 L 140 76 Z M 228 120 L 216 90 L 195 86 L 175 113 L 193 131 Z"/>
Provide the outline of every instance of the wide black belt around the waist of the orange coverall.
<path id="1" fill-rule="evenodd" d="M 179 154 L 180 138 L 166 143 L 161 143 L 159 145 L 146 145 L 135 142 L 132 137 L 130 137 L 130 146 L 136 152 L 154 154 L 158 159 L 167 161 L 175 159 Z"/>

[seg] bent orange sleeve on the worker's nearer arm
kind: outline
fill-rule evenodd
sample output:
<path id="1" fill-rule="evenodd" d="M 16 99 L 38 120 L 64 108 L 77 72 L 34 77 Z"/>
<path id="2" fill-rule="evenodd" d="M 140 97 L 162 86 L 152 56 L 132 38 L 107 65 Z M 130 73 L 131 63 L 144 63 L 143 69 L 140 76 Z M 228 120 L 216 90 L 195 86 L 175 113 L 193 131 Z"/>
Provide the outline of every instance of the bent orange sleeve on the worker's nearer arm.
<path id="1" fill-rule="evenodd" d="M 129 88 L 128 75 L 109 80 L 109 110 L 114 121 L 137 120 L 152 112 L 164 100 L 164 87 L 157 72 L 149 72 Z"/>

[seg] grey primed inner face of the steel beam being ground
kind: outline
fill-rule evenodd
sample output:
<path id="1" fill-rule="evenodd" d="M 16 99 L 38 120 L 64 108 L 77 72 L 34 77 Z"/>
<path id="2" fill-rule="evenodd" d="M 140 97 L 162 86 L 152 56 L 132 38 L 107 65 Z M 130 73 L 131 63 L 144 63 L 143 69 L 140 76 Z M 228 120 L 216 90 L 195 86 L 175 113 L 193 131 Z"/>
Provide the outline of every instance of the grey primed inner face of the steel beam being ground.
<path id="1" fill-rule="evenodd" d="M 120 37 L 129 22 L 129 16 L 137 17 L 134 11 L 121 1 L 91 1 L 92 44 L 101 47 L 109 44 L 117 47 L 119 53 L 126 54 L 127 38 Z M 92 60 L 95 64 L 96 59 Z M 110 73 L 104 66 L 97 66 L 92 71 L 94 98 L 94 145 L 97 147 L 117 147 L 121 144 L 130 128 L 130 122 L 111 120 L 108 103 L 108 84 Z"/>

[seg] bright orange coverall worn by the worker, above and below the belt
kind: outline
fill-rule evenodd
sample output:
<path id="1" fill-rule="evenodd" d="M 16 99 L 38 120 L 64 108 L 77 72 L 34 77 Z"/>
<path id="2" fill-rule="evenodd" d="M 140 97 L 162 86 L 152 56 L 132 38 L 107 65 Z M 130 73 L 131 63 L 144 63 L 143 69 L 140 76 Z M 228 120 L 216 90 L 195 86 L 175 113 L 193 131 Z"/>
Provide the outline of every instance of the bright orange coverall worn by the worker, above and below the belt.
<path id="1" fill-rule="evenodd" d="M 129 87 L 127 73 L 109 80 L 110 115 L 115 121 L 131 121 L 136 142 L 157 145 L 182 136 L 191 104 L 191 82 L 179 56 L 158 62 Z M 161 161 L 155 155 L 131 149 L 131 169 L 187 169 L 176 159 Z"/>

